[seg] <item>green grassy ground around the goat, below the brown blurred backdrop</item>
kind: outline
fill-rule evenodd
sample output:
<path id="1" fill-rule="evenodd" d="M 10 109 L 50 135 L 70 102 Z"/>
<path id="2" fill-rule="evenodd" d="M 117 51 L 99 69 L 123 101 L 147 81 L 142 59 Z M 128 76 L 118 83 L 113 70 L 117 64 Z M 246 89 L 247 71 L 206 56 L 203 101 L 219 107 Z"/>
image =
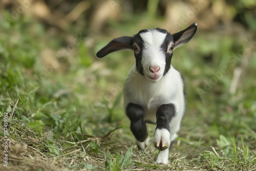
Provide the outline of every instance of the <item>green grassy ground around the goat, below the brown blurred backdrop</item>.
<path id="1" fill-rule="evenodd" d="M 256 170 L 256 41 L 200 25 L 172 60 L 185 78 L 187 110 L 169 164 L 154 163 L 152 143 L 138 150 L 122 106 L 133 53 L 95 54 L 112 38 L 135 34 L 142 20 L 113 24 L 115 35 L 92 48 L 75 28 L 1 20 L 0 170 Z"/>

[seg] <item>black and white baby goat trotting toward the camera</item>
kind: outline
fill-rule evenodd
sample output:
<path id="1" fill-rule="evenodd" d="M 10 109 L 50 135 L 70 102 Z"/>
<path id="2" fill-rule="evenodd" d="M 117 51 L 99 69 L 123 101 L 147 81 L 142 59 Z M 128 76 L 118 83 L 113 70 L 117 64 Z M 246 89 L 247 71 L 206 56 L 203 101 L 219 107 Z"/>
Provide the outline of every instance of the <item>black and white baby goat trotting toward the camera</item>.
<path id="1" fill-rule="evenodd" d="M 169 146 L 177 138 L 185 112 L 184 82 L 170 64 L 173 51 L 196 33 L 197 24 L 175 34 L 164 29 L 145 29 L 133 37 L 115 38 L 96 55 L 131 49 L 136 64 L 125 81 L 124 108 L 131 131 L 140 149 L 150 142 L 145 123 L 156 123 L 154 145 L 159 149 L 157 163 L 168 163 Z"/>

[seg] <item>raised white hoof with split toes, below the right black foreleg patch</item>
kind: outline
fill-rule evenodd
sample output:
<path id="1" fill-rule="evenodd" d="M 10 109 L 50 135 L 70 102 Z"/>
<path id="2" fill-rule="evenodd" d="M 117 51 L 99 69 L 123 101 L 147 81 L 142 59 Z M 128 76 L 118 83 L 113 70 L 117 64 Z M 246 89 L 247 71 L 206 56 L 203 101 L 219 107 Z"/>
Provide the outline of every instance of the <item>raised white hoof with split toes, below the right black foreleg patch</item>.
<path id="1" fill-rule="evenodd" d="M 170 133 L 166 129 L 156 129 L 154 137 L 154 146 L 160 151 L 164 151 L 169 147 Z"/>

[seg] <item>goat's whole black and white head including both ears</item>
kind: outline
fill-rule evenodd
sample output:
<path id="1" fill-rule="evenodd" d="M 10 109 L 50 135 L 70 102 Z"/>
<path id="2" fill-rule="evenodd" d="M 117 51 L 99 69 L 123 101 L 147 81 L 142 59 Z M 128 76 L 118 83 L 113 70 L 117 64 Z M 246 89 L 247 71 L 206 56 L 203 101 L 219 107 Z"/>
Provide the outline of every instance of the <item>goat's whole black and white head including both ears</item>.
<path id="1" fill-rule="evenodd" d="M 173 50 L 188 42 L 196 31 L 196 23 L 175 34 L 159 28 L 141 30 L 133 37 L 113 39 L 96 55 L 101 58 L 114 51 L 133 49 L 137 71 L 149 80 L 158 81 L 170 69 Z"/>

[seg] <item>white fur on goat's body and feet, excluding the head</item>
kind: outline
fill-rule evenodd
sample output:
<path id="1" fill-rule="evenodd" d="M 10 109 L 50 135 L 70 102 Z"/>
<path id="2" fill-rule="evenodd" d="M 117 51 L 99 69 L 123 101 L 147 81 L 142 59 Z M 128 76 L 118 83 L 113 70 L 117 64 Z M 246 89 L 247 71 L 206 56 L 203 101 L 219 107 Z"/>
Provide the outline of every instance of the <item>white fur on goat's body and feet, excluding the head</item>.
<path id="1" fill-rule="evenodd" d="M 180 73 L 172 66 L 170 70 L 157 82 L 152 82 L 138 73 L 133 67 L 130 76 L 124 85 L 124 106 L 129 103 L 140 104 L 144 111 L 144 120 L 156 123 L 156 111 L 161 104 L 172 103 L 175 105 L 176 116 L 169 123 L 170 132 L 166 134 L 161 130 L 156 130 L 154 142 L 159 143 L 162 139 L 166 139 L 169 144 L 177 137 L 180 129 L 180 122 L 185 111 L 185 98 L 183 95 L 183 81 Z M 164 129 L 164 131 L 166 131 Z M 159 138 L 161 137 L 161 138 Z M 148 143 L 139 142 L 140 148 L 144 149 Z M 142 145 L 143 144 L 143 145 Z M 166 163 L 168 161 L 167 148 L 160 152 L 156 162 Z M 166 161 L 167 160 L 167 161 Z"/>

